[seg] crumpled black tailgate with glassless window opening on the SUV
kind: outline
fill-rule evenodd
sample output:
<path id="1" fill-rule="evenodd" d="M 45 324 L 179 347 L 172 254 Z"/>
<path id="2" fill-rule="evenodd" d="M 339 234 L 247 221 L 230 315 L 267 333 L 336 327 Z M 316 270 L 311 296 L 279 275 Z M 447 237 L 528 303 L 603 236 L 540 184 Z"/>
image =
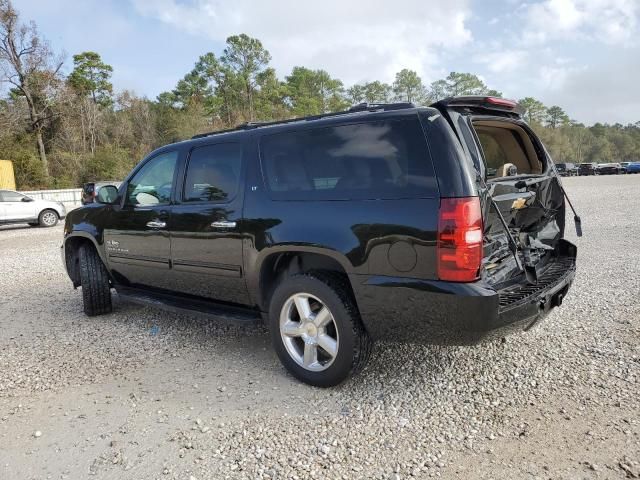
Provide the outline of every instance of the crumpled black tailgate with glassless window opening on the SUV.
<path id="1" fill-rule="evenodd" d="M 552 171 L 544 173 L 546 155 L 521 124 L 495 117 L 472 123 L 484 152 L 488 194 L 482 276 L 493 285 L 522 278 L 535 283 L 564 234 L 562 188 Z"/>

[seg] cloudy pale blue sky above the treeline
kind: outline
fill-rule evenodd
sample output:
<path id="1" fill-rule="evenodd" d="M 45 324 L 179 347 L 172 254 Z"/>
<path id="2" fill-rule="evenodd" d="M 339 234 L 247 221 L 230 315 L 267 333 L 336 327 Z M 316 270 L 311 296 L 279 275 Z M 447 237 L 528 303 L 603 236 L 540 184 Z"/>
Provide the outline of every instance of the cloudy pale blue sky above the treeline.
<path id="1" fill-rule="evenodd" d="M 284 78 L 322 68 L 346 86 L 471 72 L 509 98 L 587 125 L 640 121 L 640 0 L 13 0 L 54 50 L 96 51 L 117 90 L 155 98 L 225 39 L 258 38 Z"/>

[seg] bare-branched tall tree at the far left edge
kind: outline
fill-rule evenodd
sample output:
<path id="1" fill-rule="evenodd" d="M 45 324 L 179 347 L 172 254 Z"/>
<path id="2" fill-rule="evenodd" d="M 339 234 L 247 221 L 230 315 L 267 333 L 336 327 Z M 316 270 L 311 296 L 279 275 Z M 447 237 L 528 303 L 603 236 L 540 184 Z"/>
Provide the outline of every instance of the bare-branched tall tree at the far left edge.
<path id="1" fill-rule="evenodd" d="M 43 130 L 54 116 L 52 98 L 61 68 L 62 61 L 54 59 L 35 23 L 21 24 L 10 0 L 0 0 L 0 81 L 12 85 L 27 103 L 45 180 L 49 164 Z"/>

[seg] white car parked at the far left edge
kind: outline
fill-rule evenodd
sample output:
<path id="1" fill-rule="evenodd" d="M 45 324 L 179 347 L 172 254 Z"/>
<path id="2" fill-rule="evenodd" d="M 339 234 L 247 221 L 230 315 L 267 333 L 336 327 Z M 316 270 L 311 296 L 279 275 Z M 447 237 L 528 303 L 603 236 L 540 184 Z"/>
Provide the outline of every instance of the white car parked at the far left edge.
<path id="1" fill-rule="evenodd" d="M 28 223 L 32 227 L 53 227 L 66 214 L 60 202 L 36 200 L 12 190 L 0 190 L 0 225 Z"/>

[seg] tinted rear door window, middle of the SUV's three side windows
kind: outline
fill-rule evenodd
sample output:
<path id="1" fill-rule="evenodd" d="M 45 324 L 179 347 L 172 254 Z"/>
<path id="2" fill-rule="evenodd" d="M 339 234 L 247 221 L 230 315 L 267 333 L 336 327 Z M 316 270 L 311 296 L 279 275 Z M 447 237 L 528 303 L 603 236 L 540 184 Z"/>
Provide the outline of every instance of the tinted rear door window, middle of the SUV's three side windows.
<path id="1" fill-rule="evenodd" d="M 227 202 L 233 199 L 240 181 L 241 155 L 238 143 L 194 148 L 184 183 L 184 201 Z"/>

